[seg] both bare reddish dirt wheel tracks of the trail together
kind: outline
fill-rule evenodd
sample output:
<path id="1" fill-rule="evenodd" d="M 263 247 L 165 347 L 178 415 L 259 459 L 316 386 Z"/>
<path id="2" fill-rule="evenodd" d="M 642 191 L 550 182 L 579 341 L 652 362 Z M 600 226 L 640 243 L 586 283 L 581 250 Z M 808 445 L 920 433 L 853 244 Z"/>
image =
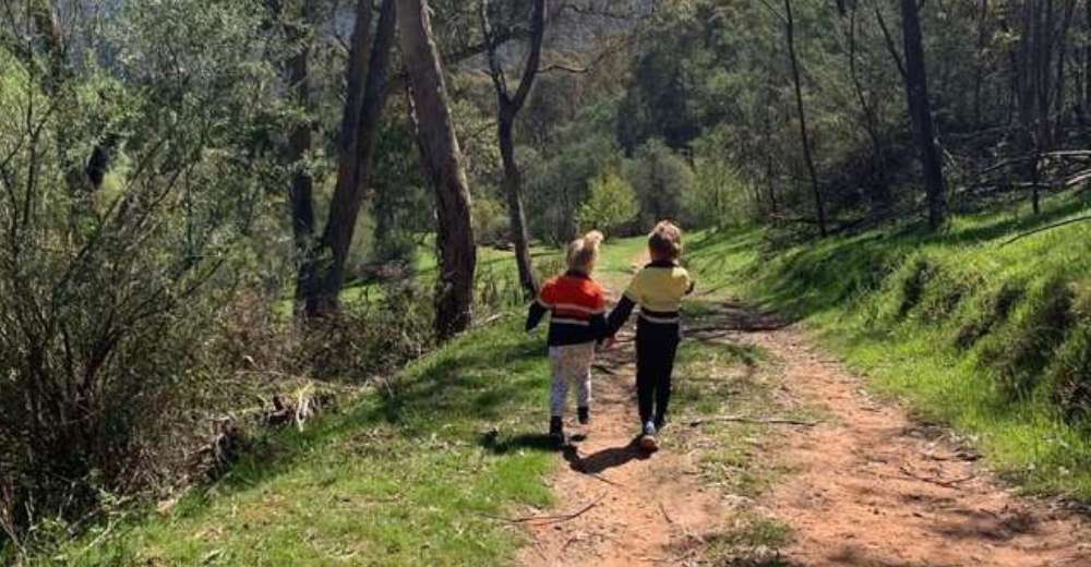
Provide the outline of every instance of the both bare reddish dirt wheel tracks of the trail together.
<path id="1" fill-rule="evenodd" d="M 1014 496 L 944 430 L 870 399 L 800 330 L 729 302 L 697 333 L 768 350 L 781 361 L 781 391 L 826 415 L 763 456 L 792 471 L 757 504 L 794 543 L 783 560 L 758 565 L 1091 566 L 1087 517 Z M 590 433 L 552 481 L 549 514 L 578 515 L 531 522 L 521 565 L 696 565 L 731 519 L 730 495 L 695 474 L 699 454 L 668 446 L 647 457 L 632 446 L 631 338 L 600 360 Z"/>

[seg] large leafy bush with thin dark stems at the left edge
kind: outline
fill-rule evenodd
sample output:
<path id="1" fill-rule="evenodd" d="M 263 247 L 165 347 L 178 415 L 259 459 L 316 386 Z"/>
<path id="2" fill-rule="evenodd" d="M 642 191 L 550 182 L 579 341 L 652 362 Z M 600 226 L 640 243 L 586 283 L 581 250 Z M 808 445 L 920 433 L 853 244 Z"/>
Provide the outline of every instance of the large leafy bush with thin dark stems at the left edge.
<path id="1" fill-rule="evenodd" d="M 110 73 L 44 79 L 45 55 L 3 61 L 0 524 L 12 538 L 154 488 L 169 474 L 160 457 L 193 434 L 179 424 L 206 386 L 202 347 L 262 196 L 284 181 L 260 132 L 279 107 L 252 8 L 129 3 Z M 254 51 L 226 49 L 237 45 Z M 96 193 L 82 168 L 98 145 L 124 167 Z"/>

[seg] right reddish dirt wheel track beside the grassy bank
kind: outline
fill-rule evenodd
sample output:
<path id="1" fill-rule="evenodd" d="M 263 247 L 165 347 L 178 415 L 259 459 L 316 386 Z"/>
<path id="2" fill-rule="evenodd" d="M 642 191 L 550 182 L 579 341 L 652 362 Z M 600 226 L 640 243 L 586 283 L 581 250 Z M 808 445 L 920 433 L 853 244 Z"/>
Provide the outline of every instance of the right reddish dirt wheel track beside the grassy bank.
<path id="1" fill-rule="evenodd" d="M 728 311 L 753 318 L 738 305 Z M 972 449 L 870 399 L 799 330 L 743 340 L 776 353 L 783 384 L 830 415 L 788 437 L 781 458 L 798 473 L 763 502 L 795 531 L 791 564 L 1091 566 L 1087 517 L 1012 495 Z"/>

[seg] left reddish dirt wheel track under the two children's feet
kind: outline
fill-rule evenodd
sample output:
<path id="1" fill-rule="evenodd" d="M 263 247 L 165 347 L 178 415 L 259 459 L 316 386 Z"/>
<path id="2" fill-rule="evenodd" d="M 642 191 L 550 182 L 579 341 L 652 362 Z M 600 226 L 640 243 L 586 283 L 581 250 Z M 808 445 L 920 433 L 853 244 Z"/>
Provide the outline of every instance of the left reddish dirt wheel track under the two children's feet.
<path id="1" fill-rule="evenodd" d="M 556 509 L 580 514 L 567 521 L 528 526 L 531 544 L 521 556 L 531 566 L 639 566 L 670 564 L 683 547 L 694 552 L 724 512 L 715 488 L 702 486 L 693 456 L 664 450 L 648 456 L 632 442 L 639 427 L 632 387 L 632 336 L 600 358 L 592 422 L 562 455 L 552 482 Z M 566 431 L 584 431 L 571 419 Z M 587 509 L 587 506 L 591 506 Z"/>

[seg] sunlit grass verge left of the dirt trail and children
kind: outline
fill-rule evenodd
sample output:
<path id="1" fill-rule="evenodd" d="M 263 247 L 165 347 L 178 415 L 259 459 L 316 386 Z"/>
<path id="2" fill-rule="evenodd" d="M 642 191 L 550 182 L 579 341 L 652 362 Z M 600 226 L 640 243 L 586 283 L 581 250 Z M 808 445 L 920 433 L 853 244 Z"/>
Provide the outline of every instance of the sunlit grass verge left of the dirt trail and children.
<path id="1" fill-rule="evenodd" d="M 216 484 L 92 530 L 69 565 L 493 565 L 521 535 L 489 519 L 546 506 L 547 360 L 518 317 L 409 366 L 393 391 L 263 442 Z"/>

